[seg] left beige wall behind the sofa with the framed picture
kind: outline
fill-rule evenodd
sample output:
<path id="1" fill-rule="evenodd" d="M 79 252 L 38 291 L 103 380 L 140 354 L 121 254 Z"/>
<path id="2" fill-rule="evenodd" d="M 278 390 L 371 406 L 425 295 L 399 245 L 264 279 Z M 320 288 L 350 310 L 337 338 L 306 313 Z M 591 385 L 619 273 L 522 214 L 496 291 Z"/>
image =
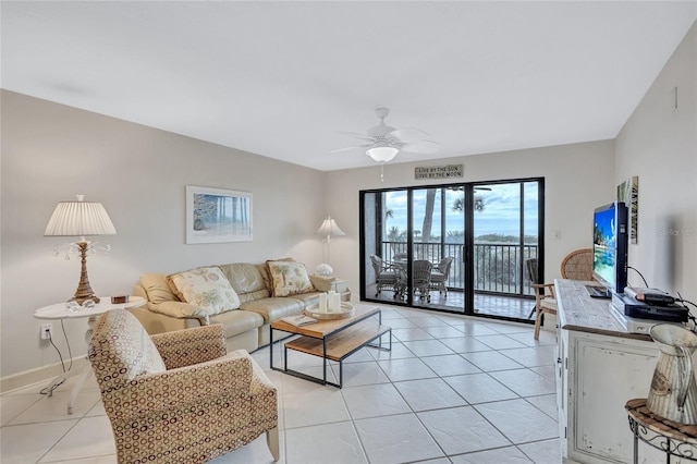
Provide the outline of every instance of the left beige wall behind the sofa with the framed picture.
<path id="1" fill-rule="evenodd" d="M 292 255 L 321 261 L 315 230 L 325 215 L 323 174 L 269 158 L 2 91 L 1 371 L 5 377 L 58 362 L 39 340 L 34 309 L 75 291 L 80 260 L 54 258 L 44 230 L 59 200 L 101 202 L 117 235 L 108 257 L 88 258 L 98 294 L 130 293 L 138 276 L 195 266 Z M 254 241 L 184 244 L 185 186 L 252 192 Z M 60 322 L 53 322 L 63 356 Z M 86 321 L 65 323 L 74 356 L 84 355 Z"/>

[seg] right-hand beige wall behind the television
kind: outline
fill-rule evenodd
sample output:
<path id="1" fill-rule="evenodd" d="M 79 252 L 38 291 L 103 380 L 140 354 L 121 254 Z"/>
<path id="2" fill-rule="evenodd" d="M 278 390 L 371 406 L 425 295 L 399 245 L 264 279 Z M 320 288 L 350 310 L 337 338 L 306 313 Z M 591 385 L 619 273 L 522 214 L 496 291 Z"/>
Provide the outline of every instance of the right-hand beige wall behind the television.
<path id="1" fill-rule="evenodd" d="M 615 182 L 639 176 L 629 265 L 648 284 L 697 303 L 697 25 L 616 138 Z M 673 89 L 677 87 L 677 108 Z M 643 285 L 637 273 L 629 280 Z M 695 308 L 693 308 L 695 309 Z"/>

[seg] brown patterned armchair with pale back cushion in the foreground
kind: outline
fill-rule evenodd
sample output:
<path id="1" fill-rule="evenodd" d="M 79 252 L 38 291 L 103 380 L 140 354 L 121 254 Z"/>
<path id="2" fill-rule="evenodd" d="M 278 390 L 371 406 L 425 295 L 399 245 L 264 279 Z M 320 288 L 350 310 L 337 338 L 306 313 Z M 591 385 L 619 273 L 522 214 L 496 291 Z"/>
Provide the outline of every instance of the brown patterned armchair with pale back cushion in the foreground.
<path id="1" fill-rule="evenodd" d="M 89 362 L 120 463 L 200 463 L 266 432 L 279 459 L 278 396 L 248 355 L 225 354 L 222 326 L 148 335 L 127 310 L 95 323 Z"/>

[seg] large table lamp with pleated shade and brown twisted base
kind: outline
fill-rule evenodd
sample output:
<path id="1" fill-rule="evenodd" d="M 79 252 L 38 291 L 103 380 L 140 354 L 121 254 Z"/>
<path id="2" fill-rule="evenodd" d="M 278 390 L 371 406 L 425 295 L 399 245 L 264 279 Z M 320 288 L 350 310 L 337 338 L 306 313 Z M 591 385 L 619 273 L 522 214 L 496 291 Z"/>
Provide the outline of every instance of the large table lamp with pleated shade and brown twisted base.
<path id="1" fill-rule="evenodd" d="M 56 246 L 56 255 L 58 256 L 61 247 L 68 247 L 65 259 L 70 259 L 70 253 L 76 246 L 80 249 L 80 259 L 82 269 L 80 272 L 80 283 L 75 295 L 70 301 L 82 305 L 84 302 L 91 300 L 99 303 L 99 298 L 95 295 L 89 285 L 87 278 L 87 252 L 96 249 L 105 249 L 108 252 L 109 246 L 98 247 L 97 242 L 88 242 L 85 240 L 88 235 L 113 235 L 117 230 L 101 203 L 84 202 L 84 195 L 77 195 L 76 202 L 60 202 L 51 219 L 46 225 L 44 236 L 80 236 L 80 242 L 69 243 Z"/>

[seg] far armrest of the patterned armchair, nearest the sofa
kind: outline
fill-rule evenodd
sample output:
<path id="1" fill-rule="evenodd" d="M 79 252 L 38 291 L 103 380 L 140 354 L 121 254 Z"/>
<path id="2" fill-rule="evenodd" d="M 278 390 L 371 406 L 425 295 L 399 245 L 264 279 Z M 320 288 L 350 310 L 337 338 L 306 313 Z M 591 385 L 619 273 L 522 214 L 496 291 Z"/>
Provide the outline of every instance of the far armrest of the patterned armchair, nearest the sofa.
<path id="1" fill-rule="evenodd" d="M 227 354 L 222 326 L 195 327 L 150 335 L 168 369 L 217 359 Z"/>

